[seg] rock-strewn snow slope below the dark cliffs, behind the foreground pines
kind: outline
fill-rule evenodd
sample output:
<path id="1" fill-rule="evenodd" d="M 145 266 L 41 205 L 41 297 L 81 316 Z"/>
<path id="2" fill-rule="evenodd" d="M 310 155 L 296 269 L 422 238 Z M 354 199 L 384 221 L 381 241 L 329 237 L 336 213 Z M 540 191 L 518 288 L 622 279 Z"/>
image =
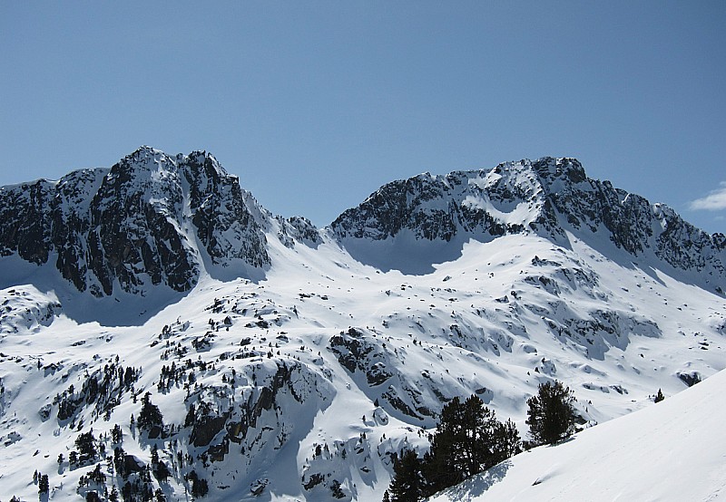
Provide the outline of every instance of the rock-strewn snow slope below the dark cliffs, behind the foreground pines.
<path id="1" fill-rule="evenodd" d="M 261 499 L 334 500 L 335 480 L 344 499 L 378 500 L 390 454 L 404 444 L 426 448 L 426 430 L 456 395 L 476 392 L 524 432 L 526 398 L 557 378 L 594 424 L 651 408 L 659 388 L 667 396 L 686 388 L 679 373 L 710 376 L 726 360 L 719 296 L 616 265 L 582 244 L 564 251 L 541 237 L 469 242 L 456 262 L 423 276 L 376 271 L 329 240 L 272 246 L 270 256 L 266 280 L 202 276 L 137 325 L 78 323 L 52 292 L 5 289 L 5 309 L 17 314 L 4 317 L 0 339 L 0 499 L 36 497 L 34 468 L 51 474 L 54 499 L 77 497 L 79 477 L 93 466 L 66 461 L 59 469 L 58 454 L 67 459 L 80 431 L 108 434 L 118 423 L 127 453 L 148 463 L 158 445 L 175 475 L 154 486 L 172 500 L 183 499 L 191 469 L 211 481 L 211 500 L 260 499 L 251 489 L 265 480 Z M 117 355 L 123 367 L 141 369 L 134 388 L 116 390 L 107 414 L 92 401 L 60 419 L 54 396 L 82 399 L 88 375 Z M 195 383 L 160 388 L 162 366 L 172 362 Z M 268 409 L 264 389 L 276 389 Z M 146 391 L 178 428 L 169 439 L 144 439 L 129 423 L 141 406 L 133 396 Z M 253 410 L 260 415 L 245 434 L 211 430 L 195 444 L 194 428 L 182 427 L 192 403 L 209 404 L 209 416 L 225 417 L 229 430 Z M 225 450 L 220 461 L 201 460 Z M 193 465 L 175 464 L 179 451 Z"/>

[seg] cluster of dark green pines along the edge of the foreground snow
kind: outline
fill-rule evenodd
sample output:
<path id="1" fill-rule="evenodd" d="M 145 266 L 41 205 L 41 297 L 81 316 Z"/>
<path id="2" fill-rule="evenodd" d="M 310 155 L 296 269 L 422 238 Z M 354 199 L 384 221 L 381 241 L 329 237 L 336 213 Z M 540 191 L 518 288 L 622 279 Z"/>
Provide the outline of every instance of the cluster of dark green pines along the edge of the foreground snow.
<path id="1" fill-rule="evenodd" d="M 530 441 L 523 443 L 512 420 L 502 422 L 484 402 L 472 395 L 458 397 L 441 411 L 437 430 L 429 436 L 430 449 L 419 458 L 404 449 L 394 458 L 394 477 L 384 502 L 417 502 L 452 487 L 522 451 L 554 444 L 574 433 L 574 395 L 559 381 L 540 384 L 527 401 Z"/>

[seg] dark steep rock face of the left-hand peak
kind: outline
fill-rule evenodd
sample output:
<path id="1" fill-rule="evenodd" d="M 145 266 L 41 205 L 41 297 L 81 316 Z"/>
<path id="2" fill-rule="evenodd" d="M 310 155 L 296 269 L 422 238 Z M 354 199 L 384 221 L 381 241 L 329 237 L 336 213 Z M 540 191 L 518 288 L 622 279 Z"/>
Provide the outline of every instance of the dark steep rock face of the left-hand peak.
<path id="1" fill-rule="evenodd" d="M 0 253 L 42 265 L 96 296 L 145 285 L 187 291 L 214 265 L 270 264 L 267 214 L 210 154 L 142 147 L 111 169 L 0 188 Z"/>

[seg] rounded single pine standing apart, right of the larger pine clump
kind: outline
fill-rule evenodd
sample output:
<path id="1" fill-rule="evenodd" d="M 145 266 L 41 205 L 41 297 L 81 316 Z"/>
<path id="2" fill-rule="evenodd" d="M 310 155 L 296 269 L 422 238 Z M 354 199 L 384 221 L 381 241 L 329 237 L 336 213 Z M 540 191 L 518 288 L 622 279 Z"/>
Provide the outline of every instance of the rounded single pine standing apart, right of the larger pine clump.
<path id="1" fill-rule="evenodd" d="M 537 395 L 527 401 L 525 420 L 535 444 L 554 444 L 574 433 L 577 414 L 573 402 L 573 392 L 561 381 L 539 385 Z"/>

